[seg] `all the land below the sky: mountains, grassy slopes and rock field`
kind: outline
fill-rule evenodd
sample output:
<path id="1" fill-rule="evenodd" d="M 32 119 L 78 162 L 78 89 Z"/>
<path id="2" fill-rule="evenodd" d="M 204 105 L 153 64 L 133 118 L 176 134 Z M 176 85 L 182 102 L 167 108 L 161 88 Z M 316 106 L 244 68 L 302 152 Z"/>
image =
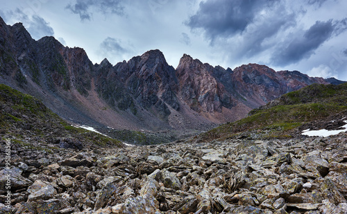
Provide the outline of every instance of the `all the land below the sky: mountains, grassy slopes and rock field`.
<path id="1" fill-rule="evenodd" d="M 346 214 L 346 118 L 337 79 L 93 65 L 0 18 L 0 214 Z"/>

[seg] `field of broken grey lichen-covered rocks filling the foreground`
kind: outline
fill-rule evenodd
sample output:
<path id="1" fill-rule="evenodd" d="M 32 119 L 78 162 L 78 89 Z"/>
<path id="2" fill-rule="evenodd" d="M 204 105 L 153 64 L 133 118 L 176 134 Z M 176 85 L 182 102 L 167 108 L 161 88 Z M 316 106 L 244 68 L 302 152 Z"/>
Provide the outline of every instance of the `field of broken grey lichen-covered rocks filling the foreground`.
<path id="1" fill-rule="evenodd" d="M 346 133 L 81 151 L 12 140 L 10 170 L 6 142 L 0 213 L 347 213 Z"/>

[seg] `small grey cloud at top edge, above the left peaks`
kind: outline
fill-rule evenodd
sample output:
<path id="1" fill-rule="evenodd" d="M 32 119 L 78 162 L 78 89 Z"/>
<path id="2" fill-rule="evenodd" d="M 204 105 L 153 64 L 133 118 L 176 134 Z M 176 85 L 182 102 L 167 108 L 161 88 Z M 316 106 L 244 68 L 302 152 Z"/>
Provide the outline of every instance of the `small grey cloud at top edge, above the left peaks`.
<path id="1" fill-rule="evenodd" d="M 92 10 L 96 9 L 103 14 L 124 15 L 124 6 L 121 6 L 121 0 L 76 0 L 76 3 L 66 6 L 72 13 L 79 15 L 81 21 L 92 18 Z"/>

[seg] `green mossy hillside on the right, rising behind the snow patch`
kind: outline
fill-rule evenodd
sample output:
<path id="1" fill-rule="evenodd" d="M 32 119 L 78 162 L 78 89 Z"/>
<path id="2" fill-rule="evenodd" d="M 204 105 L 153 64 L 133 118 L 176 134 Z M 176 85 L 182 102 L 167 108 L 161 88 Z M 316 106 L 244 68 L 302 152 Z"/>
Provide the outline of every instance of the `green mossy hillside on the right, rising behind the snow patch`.
<path id="1" fill-rule="evenodd" d="M 264 137 L 290 138 L 291 131 L 307 122 L 347 110 L 347 83 L 341 85 L 309 85 L 284 94 L 266 106 L 252 110 L 248 117 L 223 124 L 203 133 L 202 141 L 232 138 L 244 131 L 266 132 Z"/>

